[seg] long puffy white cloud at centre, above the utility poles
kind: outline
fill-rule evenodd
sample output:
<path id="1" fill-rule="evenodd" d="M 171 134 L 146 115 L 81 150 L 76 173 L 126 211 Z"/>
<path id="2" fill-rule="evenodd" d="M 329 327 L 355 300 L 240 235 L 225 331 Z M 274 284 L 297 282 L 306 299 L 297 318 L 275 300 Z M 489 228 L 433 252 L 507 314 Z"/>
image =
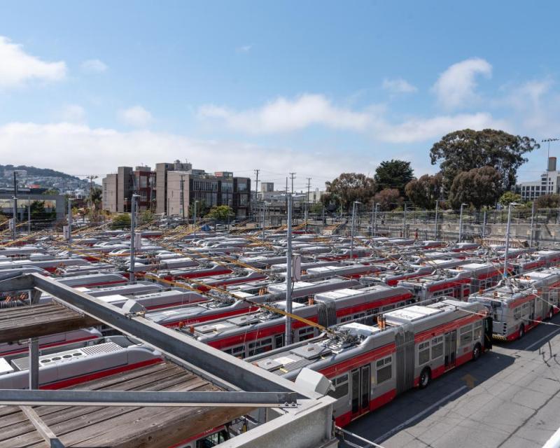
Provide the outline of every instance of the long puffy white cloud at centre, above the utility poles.
<path id="1" fill-rule="evenodd" d="M 311 125 L 360 131 L 365 130 L 369 120 L 367 113 L 333 106 L 320 94 L 303 94 L 293 100 L 280 97 L 248 111 L 207 105 L 199 109 L 199 116 L 223 120 L 230 129 L 249 134 L 293 132 Z"/>

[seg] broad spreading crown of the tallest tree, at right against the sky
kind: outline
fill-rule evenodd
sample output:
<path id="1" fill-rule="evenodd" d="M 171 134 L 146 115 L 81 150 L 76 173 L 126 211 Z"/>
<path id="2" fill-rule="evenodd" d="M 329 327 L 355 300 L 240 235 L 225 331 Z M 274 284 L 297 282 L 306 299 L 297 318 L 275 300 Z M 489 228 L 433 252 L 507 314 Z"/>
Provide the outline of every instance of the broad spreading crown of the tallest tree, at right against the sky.
<path id="1" fill-rule="evenodd" d="M 527 161 L 523 155 L 536 148 L 540 146 L 529 137 L 492 129 L 465 129 L 451 132 L 434 144 L 430 149 L 430 160 L 432 165 L 440 162 L 447 190 L 459 173 L 493 167 L 500 174 L 498 189 L 501 194 L 515 185 L 517 169 Z"/>

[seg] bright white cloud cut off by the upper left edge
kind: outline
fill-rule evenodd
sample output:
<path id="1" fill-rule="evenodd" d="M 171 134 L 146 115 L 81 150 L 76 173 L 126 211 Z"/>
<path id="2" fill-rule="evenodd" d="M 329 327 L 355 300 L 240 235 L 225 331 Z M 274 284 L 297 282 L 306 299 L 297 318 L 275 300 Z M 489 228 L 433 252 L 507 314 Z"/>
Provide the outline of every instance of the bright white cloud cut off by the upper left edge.
<path id="1" fill-rule="evenodd" d="M 66 64 L 44 62 L 28 55 L 5 36 L 0 36 L 0 88 L 18 87 L 32 80 L 59 81 L 66 77 Z"/>

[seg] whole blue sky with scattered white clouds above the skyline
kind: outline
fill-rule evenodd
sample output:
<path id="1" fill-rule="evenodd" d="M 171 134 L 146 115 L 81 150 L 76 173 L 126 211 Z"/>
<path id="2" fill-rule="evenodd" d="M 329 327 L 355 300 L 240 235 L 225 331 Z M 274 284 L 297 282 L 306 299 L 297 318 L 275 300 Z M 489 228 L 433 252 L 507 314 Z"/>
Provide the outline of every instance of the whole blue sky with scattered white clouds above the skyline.
<path id="1" fill-rule="evenodd" d="M 313 186 L 390 158 L 435 172 L 463 127 L 556 137 L 558 3 L 13 1 L 4 163 L 103 176 L 188 159 Z M 558 136 L 560 137 L 560 135 Z M 556 155 L 560 144 L 552 146 Z M 538 175 L 545 150 L 519 179 Z"/>

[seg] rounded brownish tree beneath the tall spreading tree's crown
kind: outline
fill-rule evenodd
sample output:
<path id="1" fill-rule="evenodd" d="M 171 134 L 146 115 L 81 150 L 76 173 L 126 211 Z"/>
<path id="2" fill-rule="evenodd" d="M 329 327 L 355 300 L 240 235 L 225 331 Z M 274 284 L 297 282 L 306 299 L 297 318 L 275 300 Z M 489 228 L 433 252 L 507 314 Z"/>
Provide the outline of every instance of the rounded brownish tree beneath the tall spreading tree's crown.
<path id="1" fill-rule="evenodd" d="M 480 210 L 484 205 L 496 204 L 500 197 L 502 177 L 492 167 L 473 168 L 461 172 L 451 184 L 449 201 L 458 209 L 461 204 L 472 204 Z"/>

